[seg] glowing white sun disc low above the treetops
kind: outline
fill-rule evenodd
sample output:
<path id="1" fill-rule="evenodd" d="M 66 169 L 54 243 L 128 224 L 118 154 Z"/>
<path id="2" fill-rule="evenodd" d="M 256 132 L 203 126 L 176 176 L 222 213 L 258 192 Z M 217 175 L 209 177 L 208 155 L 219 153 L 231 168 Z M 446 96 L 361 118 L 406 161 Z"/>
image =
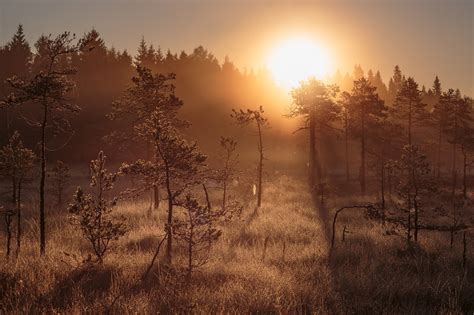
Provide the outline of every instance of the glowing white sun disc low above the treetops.
<path id="1" fill-rule="evenodd" d="M 294 37 L 276 45 L 267 67 L 278 85 L 290 89 L 309 77 L 323 79 L 331 71 L 332 62 L 327 50 L 316 41 Z"/>

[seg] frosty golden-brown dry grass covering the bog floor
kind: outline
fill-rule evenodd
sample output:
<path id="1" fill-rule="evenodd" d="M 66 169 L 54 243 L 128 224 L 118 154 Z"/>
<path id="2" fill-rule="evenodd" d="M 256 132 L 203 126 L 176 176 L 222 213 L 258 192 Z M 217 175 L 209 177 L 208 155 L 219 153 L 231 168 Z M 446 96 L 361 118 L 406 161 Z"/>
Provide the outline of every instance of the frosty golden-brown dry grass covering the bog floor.
<path id="1" fill-rule="evenodd" d="M 304 182 L 276 178 L 267 185 L 264 199 L 258 213 L 249 206 L 240 219 L 223 227 L 209 263 L 191 283 L 181 272 L 184 252 L 179 244 L 173 267 L 155 268 L 146 281 L 138 281 L 163 234 L 164 209 L 149 212 L 145 202 L 122 204 L 118 211 L 128 218 L 131 230 L 102 266 L 81 264 L 88 245 L 59 210 L 49 215 L 48 255 L 40 258 L 36 216 L 26 214 L 20 257 L 0 262 L 0 313 L 474 310 L 474 259 L 471 251 L 464 274 L 459 241 L 449 249 L 446 236 L 422 233 L 421 248 L 407 250 L 397 237 L 383 236 L 381 227 L 366 222 L 360 212 L 348 211 L 339 226 L 346 225 L 352 233 L 344 243 L 338 233 L 336 249 L 329 255 L 329 225 L 313 207 Z M 330 200 L 329 208 L 351 202 Z M 3 246 L 4 233 L 0 242 Z"/>

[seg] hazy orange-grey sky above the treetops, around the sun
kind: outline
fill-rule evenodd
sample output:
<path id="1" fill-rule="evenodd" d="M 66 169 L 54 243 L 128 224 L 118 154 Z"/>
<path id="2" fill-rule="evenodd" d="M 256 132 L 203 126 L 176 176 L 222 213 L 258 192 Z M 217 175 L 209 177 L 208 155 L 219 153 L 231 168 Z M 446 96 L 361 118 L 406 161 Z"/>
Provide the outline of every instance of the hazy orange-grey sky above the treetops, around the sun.
<path id="1" fill-rule="evenodd" d="M 314 38 L 329 50 L 335 68 L 393 66 L 431 86 L 473 95 L 474 1 L 88 1 L 0 0 L 0 42 L 19 23 L 33 42 L 41 33 L 97 29 L 107 45 L 136 52 L 142 37 L 163 50 L 205 46 L 239 67 L 263 66 L 278 41 Z M 1 71 L 1 69 L 0 69 Z"/>

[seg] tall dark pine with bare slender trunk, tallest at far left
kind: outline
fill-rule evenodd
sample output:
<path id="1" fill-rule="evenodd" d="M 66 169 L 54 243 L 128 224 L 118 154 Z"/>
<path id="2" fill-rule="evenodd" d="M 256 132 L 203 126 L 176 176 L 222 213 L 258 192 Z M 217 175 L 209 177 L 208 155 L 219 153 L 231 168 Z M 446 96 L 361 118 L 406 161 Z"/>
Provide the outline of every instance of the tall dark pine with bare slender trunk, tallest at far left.
<path id="1" fill-rule="evenodd" d="M 34 104 L 42 112 L 39 120 L 24 119 L 31 126 L 41 130 L 40 159 L 41 175 L 39 186 L 39 225 L 40 225 L 40 253 L 46 252 L 46 219 L 45 219 L 45 179 L 46 179 L 46 140 L 47 129 L 53 129 L 53 134 L 64 133 L 70 130 L 66 113 L 77 113 L 79 107 L 70 102 L 70 94 L 74 83 L 68 78 L 75 73 L 74 69 L 61 67 L 61 57 L 81 51 L 87 39 L 74 43 L 75 38 L 69 32 L 56 37 L 44 39 L 47 65 L 44 69 L 32 76 L 31 79 L 12 77 L 8 81 L 13 89 L 3 106 L 18 106 L 20 104 Z"/>

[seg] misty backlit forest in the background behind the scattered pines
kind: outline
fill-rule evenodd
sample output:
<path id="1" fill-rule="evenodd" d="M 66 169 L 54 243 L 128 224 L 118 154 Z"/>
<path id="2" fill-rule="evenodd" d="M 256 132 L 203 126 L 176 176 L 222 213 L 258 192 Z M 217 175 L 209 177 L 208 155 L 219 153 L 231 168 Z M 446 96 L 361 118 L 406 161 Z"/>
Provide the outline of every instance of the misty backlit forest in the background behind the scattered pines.
<path id="1" fill-rule="evenodd" d="M 134 150 L 117 151 L 117 146 L 108 145 L 105 141 L 114 130 L 123 128 L 106 116 L 112 110 L 112 103 L 132 84 L 131 78 L 136 75 L 137 65 L 149 68 L 154 73 L 176 74 L 173 82 L 176 95 L 185 104 L 180 115 L 191 123 L 190 128 L 184 132 L 192 135 L 192 140 L 196 140 L 204 152 L 216 150 L 221 135 L 242 137 L 241 131 L 232 124 L 229 117 L 232 108 L 262 105 L 272 125 L 266 133 L 267 149 L 280 156 L 279 162 L 291 163 L 290 160 L 300 159 L 301 155 L 305 158 L 305 140 L 301 134 L 294 134 L 299 123 L 285 117 L 291 105 L 289 92 L 277 86 L 265 69 L 258 72 L 241 71 L 228 58 L 219 62 L 202 46 L 191 53 L 182 51 L 178 54 L 169 50 L 162 51 L 159 46 L 142 39 L 139 41 L 137 55 L 132 56 L 127 51 L 107 47 L 105 40 L 96 30 L 85 34 L 84 38 L 90 40 L 89 45 L 93 49 L 86 53 L 73 54 L 66 61 L 77 70 L 73 78 L 76 85 L 73 98 L 81 111 L 71 118 L 74 135 L 67 149 L 52 152 L 53 158 L 80 163 L 92 159 L 95 152 L 104 148 L 112 160 L 116 157 L 119 161 L 123 158 L 143 156 L 144 148 L 134 147 Z M 43 44 L 44 37 L 39 38 L 33 45 L 28 43 L 20 25 L 12 39 L 0 48 L 0 98 L 11 92 L 7 78 L 13 75 L 28 77 L 41 67 Z M 360 65 L 356 65 L 353 73 L 343 75 L 338 71 L 328 82 L 337 84 L 341 91 L 350 91 L 354 80 L 361 77 L 366 77 L 376 87 L 381 99 L 390 106 L 396 98 L 397 88 L 404 75 L 397 66 L 388 84 L 385 84 L 380 72 L 368 70 L 365 73 Z M 428 105 L 428 109 L 432 109 L 436 103 L 436 93 L 439 91 L 434 89 L 437 88 L 423 86 L 421 89 L 423 102 Z M 28 108 L 10 111 L 7 114 L 6 109 L 2 109 L 2 121 L 5 123 L 1 124 L 0 145 L 6 144 L 8 132 L 18 130 L 30 147 L 35 146 L 38 134 L 20 117 L 20 112 L 28 111 Z M 219 130 L 218 135 L 215 130 Z M 336 131 L 321 137 L 322 141 L 327 139 L 327 148 L 323 151 L 327 152 L 325 155 L 328 155 L 328 163 L 343 162 L 341 135 L 341 132 Z M 340 145 L 334 145 L 334 140 Z M 251 150 L 245 146 L 244 149 Z M 127 154 L 134 156 L 127 157 Z M 120 155 L 122 157 L 119 157 Z"/>

